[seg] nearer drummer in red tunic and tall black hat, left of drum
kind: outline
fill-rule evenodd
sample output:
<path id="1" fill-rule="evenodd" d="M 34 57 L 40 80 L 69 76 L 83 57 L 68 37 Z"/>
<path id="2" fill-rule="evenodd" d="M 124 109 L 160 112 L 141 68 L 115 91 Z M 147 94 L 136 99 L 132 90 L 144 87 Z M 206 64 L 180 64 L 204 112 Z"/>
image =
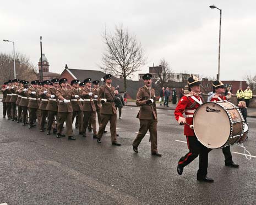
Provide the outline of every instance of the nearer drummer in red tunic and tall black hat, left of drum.
<path id="1" fill-rule="evenodd" d="M 202 145 L 195 136 L 193 128 L 189 125 L 193 122 L 195 110 L 203 104 L 200 93 L 200 81 L 195 76 L 188 78 L 188 94 L 184 94 L 175 109 L 175 118 L 179 124 L 184 124 L 184 135 L 187 136 L 187 144 L 189 152 L 178 162 L 177 172 L 182 175 L 183 168 L 192 162 L 199 155 L 199 169 L 197 172 L 197 180 L 205 182 L 213 182 L 214 180 L 207 176 L 208 168 L 208 152 L 210 149 Z M 186 117 L 183 117 L 185 113 Z"/>

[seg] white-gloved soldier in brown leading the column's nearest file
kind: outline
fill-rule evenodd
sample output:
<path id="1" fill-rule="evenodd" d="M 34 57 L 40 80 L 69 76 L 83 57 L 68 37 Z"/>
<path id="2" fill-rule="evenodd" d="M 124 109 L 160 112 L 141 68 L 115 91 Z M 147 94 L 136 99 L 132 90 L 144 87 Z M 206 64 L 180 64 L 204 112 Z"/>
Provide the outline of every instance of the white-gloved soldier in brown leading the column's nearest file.
<path id="1" fill-rule="evenodd" d="M 70 99 L 72 94 L 70 90 L 67 88 L 68 80 L 66 78 L 61 78 L 59 80 L 59 85 L 61 89 L 58 89 L 56 92 L 56 96 L 59 99 L 58 105 L 58 121 L 57 121 L 57 138 L 63 136 L 61 134 L 63 129 L 63 124 L 66 122 L 67 127 L 67 135 L 69 140 L 75 140 L 73 136 L 73 128 L 72 128 L 72 114 L 73 108 L 70 103 Z"/>

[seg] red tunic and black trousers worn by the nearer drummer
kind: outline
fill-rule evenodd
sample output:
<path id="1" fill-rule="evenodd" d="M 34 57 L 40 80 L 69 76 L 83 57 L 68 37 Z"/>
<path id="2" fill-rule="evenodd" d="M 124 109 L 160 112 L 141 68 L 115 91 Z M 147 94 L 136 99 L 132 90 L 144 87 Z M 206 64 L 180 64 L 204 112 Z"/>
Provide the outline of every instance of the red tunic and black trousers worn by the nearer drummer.
<path id="1" fill-rule="evenodd" d="M 196 100 L 195 100 L 196 99 Z M 178 123 L 181 122 L 183 113 L 186 115 L 186 123 L 193 124 L 194 112 L 199 105 L 203 103 L 203 99 L 196 93 L 188 93 L 182 96 L 175 109 L 175 118 Z M 208 152 L 210 149 L 202 145 L 195 136 L 194 130 L 190 129 L 188 124 L 184 124 L 184 135 L 187 136 L 187 145 L 189 152 L 181 157 L 178 166 L 183 169 L 199 155 L 199 169 L 197 172 L 198 179 L 204 179 L 207 175 L 208 168 Z"/>

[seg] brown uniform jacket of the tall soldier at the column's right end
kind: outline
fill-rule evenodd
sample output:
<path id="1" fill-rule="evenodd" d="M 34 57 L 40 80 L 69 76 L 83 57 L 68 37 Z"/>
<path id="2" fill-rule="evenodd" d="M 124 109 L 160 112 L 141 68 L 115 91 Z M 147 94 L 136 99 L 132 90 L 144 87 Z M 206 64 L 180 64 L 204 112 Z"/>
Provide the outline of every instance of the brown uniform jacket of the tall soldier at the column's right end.
<path id="1" fill-rule="evenodd" d="M 105 93 L 105 94 L 104 94 Z M 99 96 L 98 98 L 106 98 L 107 102 L 104 103 L 101 106 L 101 114 L 108 114 L 108 115 L 113 115 L 117 113 L 116 107 L 115 107 L 115 88 L 110 87 L 108 88 L 106 85 L 101 86 L 99 89 Z"/>

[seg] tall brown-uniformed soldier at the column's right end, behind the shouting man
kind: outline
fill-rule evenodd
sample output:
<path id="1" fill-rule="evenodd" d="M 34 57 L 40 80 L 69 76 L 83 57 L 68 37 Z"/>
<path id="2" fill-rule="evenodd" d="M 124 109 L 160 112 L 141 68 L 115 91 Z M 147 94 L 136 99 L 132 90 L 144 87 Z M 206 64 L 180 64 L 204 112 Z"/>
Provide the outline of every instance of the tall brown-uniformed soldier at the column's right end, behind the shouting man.
<path id="1" fill-rule="evenodd" d="M 115 88 L 111 86 L 112 76 L 107 74 L 104 76 L 105 86 L 101 86 L 98 98 L 101 99 L 101 123 L 99 133 L 97 135 L 97 143 L 101 143 L 101 138 L 106 128 L 108 121 L 110 121 L 110 133 L 112 145 L 121 146 L 117 143 L 117 111 L 115 107 Z"/>

